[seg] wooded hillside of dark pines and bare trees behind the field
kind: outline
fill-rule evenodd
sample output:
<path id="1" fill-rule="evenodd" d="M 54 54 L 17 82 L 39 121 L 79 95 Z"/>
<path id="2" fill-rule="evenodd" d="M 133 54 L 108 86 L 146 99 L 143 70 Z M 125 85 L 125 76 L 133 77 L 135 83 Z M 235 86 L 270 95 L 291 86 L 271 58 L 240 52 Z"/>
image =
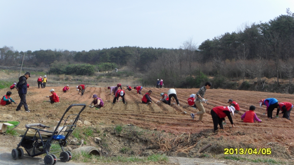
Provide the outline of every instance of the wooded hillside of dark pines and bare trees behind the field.
<path id="1" fill-rule="evenodd" d="M 208 39 L 199 46 L 189 38 L 176 49 L 123 46 L 78 52 L 19 52 L 4 46 L 0 48 L 0 64 L 20 65 L 24 53 L 26 66 L 52 68 L 82 63 L 94 66 L 112 64 L 109 69 L 128 66 L 132 72 L 143 73 L 144 80 L 149 80 L 150 84 L 159 78 L 165 80 L 164 84 L 175 87 L 199 87 L 208 75 L 220 79 L 258 78 L 258 84 L 263 83 L 261 78 L 264 76 L 278 77 L 292 83 L 294 14 L 287 9 L 285 15 L 264 23 L 244 25 L 238 31 Z"/>

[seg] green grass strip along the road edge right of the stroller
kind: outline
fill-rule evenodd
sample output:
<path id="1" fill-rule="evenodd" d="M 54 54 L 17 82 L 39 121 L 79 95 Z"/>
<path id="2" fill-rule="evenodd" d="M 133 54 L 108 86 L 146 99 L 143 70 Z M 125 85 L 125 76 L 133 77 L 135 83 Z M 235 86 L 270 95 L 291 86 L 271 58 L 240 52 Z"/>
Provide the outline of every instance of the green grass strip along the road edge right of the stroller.
<path id="1" fill-rule="evenodd" d="M 168 157 L 163 154 L 153 154 L 148 157 L 144 156 L 131 156 L 131 157 L 124 157 L 124 156 L 113 156 L 113 157 L 105 157 L 105 156 L 94 156 L 94 155 L 89 155 L 86 154 L 85 152 L 82 152 L 80 154 L 74 154 L 73 159 L 74 161 L 79 161 L 79 162 L 103 162 L 103 163 L 111 163 L 111 162 L 167 162 Z"/>

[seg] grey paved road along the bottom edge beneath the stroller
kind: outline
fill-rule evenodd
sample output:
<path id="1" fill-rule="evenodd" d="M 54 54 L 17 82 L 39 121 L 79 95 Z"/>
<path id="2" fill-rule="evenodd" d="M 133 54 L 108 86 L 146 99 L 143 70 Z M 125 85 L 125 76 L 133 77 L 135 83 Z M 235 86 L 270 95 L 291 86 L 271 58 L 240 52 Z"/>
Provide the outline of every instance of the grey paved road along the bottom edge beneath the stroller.
<path id="1" fill-rule="evenodd" d="M 6 148 L 6 147 L 0 147 L 0 165 L 39 165 L 39 164 L 44 164 L 44 157 L 30 157 L 26 156 L 27 154 L 24 154 L 23 159 L 16 159 L 13 160 L 11 157 L 11 149 Z M 169 156 L 168 157 L 169 162 L 168 164 L 178 164 L 178 165 L 208 165 L 208 164 L 214 164 L 214 165 L 227 165 L 224 164 L 223 162 L 219 162 L 217 160 L 212 160 L 212 159 L 201 159 L 201 158 L 183 158 L 183 157 L 174 157 L 174 156 Z M 200 163 L 200 162 L 206 162 L 206 163 Z M 61 162 L 60 160 L 57 161 L 56 165 L 90 165 L 87 163 L 75 163 L 73 161 L 64 163 Z M 125 164 L 125 163 L 123 163 Z M 131 163 L 132 164 L 132 163 Z"/>

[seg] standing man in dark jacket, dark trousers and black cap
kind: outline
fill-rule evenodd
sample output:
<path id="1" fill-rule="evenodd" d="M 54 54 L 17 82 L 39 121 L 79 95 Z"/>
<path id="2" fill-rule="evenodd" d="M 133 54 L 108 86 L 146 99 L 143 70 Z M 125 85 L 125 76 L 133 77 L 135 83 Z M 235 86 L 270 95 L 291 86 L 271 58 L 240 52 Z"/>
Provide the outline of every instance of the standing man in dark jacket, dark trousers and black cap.
<path id="1" fill-rule="evenodd" d="M 16 84 L 16 90 L 19 93 L 20 102 L 16 107 L 16 111 L 20 111 L 21 106 L 24 105 L 26 112 L 30 112 L 28 105 L 26 104 L 26 92 L 28 90 L 26 80 L 31 77 L 29 72 L 26 72 L 23 76 L 19 78 L 19 82 Z"/>

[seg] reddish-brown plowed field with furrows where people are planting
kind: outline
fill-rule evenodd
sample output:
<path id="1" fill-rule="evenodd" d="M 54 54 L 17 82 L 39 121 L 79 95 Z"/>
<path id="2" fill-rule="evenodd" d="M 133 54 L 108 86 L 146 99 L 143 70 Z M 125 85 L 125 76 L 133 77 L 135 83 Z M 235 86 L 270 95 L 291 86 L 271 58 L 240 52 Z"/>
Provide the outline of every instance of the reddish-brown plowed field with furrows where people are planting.
<path id="1" fill-rule="evenodd" d="M 46 96 L 51 95 L 49 90 L 54 88 L 57 95 L 60 97 L 59 103 L 51 104 L 44 102 L 49 100 Z M 227 119 L 227 124 L 224 125 L 224 130 L 219 133 L 212 133 L 213 122 L 210 115 L 213 105 L 206 105 L 206 114 L 203 117 L 203 123 L 197 122 L 198 116 L 192 121 L 190 113 L 196 112 L 195 109 L 187 106 L 187 99 L 191 94 L 196 94 L 199 89 L 176 89 L 180 106 L 169 106 L 163 102 L 156 103 L 161 97 L 160 93 L 167 93 L 167 88 L 145 88 L 142 89 L 142 94 L 148 90 L 152 90 L 151 98 L 156 104 L 143 104 L 141 99 L 143 95 L 136 94 L 135 90 L 125 90 L 126 105 L 123 102 L 116 102 L 112 105 L 113 96 L 109 95 L 110 90 L 104 87 L 86 87 L 85 93 L 81 96 L 75 87 L 71 87 L 69 92 L 63 93 L 62 87 L 46 87 L 38 89 L 37 87 L 30 87 L 26 96 L 27 103 L 31 113 L 24 112 L 22 107 L 21 112 L 16 112 L 16 106 L 1 106 L 0 120 L 14 120 L 20 121 L 18 127 L 24 127 L 29 123 L 42 123 L 46 125 L 56 125 L 60 117 L 63 115 L 66 108 L 71 104 L 85 103 L 87 107 L 81 114 L 81 121 L 87 120 L 93 125 L 104 124 L 133 124 L 137 127 L 148 130 L 157 130 L 160 132 L 171 133 L 175 136 L 181 136 L 183 133 L 189 134 L 206 134 L 206 137 L 212 138 L 213 144 L 208 152 L 220 154 L 223 153 L 224 148 L 272 148 L 272 156 L 283 159 L 292 158 L 292 149 L 294 146 L 294 123 L 293 120 L 281 118 L 268 119 L 267 116 L 262 115 L 265 112 L 265 107 L 260 108 L 258 101 L 269 97 L 275 97 L 279 102 L 294 103 L 294 95 L 268 93 L 268 92 L 254 92 L 241 90 L 223 90 L 223 89 L 208 89 L 206 90 L 205 99 L 215 106 L 228 106 L 228 99 L 233 99 L 240 105 L 240 113 L 235 114 L 233 122 L 235 128 L 231 128 L 231 124 Z M 16 90 L 11 90 L 11 97 L 19 102 L 19 96 Z M 3 96 L 7 89 L 0 90 L 0 95 Z M 104 101 L 104 107 L 96 110 L 88 107 L 92 101 L 93 94 L 97 94 Z M 175 101 L 172 101 L 172 103 Z M 262 123 L 244 123 L 241 120 L 241 115 L 248 111 L 250 105 L 255 105 L 255 113 Z M 184 113 L 187 112 L 186 113 Z M 273 111 L 275 116 L 276 110 Z M 3 118 L 3 114 L 12 115 L 12 118 Z M 290 115 L 294 119 L 293 112 Z"/>

